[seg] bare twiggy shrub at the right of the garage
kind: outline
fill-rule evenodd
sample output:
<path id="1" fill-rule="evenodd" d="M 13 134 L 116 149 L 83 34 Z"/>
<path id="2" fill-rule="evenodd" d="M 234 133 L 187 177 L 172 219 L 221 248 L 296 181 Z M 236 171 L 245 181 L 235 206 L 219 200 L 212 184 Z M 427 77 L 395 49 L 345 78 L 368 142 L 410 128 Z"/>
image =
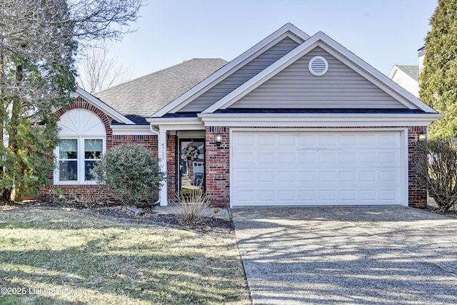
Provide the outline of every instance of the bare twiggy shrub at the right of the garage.
<path id="1" fill-rule="evenodd" d="M 431 139 L 416 146 L 414 161 L 422 186 L 440 209 L 457 204 L 457 139 Z"/>

